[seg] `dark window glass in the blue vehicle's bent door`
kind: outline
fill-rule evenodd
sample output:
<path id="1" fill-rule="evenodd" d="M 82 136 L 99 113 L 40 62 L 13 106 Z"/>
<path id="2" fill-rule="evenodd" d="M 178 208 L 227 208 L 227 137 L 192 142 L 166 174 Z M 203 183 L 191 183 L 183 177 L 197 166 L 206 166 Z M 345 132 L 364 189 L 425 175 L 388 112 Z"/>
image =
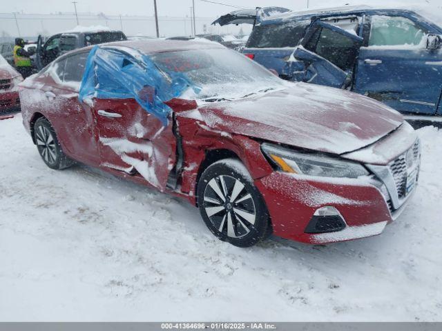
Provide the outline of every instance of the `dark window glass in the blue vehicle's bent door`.
<path id="1" fill-rule="evenodd" d="M 327 28 L 318 28 L 305 48 L 344 71 L 353 69 L 358 52 L 356 41 Z"/>

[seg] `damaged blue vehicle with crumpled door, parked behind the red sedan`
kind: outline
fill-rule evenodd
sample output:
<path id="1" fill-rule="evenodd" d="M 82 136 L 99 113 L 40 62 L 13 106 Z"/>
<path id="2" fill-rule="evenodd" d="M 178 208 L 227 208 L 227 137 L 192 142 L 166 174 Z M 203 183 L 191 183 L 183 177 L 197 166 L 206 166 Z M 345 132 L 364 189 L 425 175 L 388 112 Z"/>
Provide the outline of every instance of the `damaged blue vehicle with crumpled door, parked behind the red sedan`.
<path id="1" fill-rule="evenodd" d="M 442 115 L 442 28 L 417 12 L 266 8 L 213 23 L 253 24 L 244 54 L 282 78 L 365 94 L 410 119 Z"/>

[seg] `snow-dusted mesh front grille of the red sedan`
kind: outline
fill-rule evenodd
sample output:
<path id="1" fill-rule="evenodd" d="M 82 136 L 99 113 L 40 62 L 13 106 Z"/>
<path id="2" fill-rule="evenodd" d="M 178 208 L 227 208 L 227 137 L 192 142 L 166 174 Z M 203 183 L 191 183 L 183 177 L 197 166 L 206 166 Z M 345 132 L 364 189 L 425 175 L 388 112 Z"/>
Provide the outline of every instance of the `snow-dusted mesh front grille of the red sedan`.
<path id="1" fill-rule="evenodd" d="M 407 152 L 412 151 L 413 159 L 411 160 L 411 164 L 407 165 Z M 392 163 L 390 163 L 390 170 L 393 174 L 394 183 L 396 184 L 396 190 L 398 192 L 399 199 L 405 197 L 407 190 L 407 168 L 414 165 L 417 161 L 419 161 L 420 156 L 420 145 L 419 140 L 416 140 L 414 145 L 407 150 L 404 154 L 397 157 Z M 410 155 L 409 155 L 410 156 Z M 410 163 L 410 159 L 408 160 Z"/>

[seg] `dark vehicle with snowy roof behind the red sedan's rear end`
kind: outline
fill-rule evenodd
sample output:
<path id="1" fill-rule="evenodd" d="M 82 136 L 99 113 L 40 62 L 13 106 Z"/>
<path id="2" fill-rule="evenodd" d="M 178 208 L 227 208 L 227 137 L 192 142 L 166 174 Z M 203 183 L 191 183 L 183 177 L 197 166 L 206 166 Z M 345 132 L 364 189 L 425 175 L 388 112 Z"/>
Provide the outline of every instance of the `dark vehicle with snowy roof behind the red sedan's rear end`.
<path id="1" fill-rule="evenodd" d="M 68 32 L 54 34 L 49 37 L 45 43 L 39 36 L 37 41 L 36 66 L 40 70 L 54 61 L 61 54 L 83 48 L 86 46 L 97 45 L 99 43 L 109 43 L 111 41 L 127 40 L 126 35 L 118 30 L 88 30 L 76 29 Z"/>

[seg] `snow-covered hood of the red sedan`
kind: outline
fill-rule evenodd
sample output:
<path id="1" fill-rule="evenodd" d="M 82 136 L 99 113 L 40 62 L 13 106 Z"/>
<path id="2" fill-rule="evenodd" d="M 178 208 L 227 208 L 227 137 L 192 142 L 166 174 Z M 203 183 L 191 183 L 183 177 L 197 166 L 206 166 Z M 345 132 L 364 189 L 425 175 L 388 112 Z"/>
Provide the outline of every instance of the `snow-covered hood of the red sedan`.
<path id="1" fill-rule="evenodd" d="M 199 111 L 213 130 L 333 154 L 368 146 L 403 123 L 401 114 L 378 101 L 305 83 Z"/>

